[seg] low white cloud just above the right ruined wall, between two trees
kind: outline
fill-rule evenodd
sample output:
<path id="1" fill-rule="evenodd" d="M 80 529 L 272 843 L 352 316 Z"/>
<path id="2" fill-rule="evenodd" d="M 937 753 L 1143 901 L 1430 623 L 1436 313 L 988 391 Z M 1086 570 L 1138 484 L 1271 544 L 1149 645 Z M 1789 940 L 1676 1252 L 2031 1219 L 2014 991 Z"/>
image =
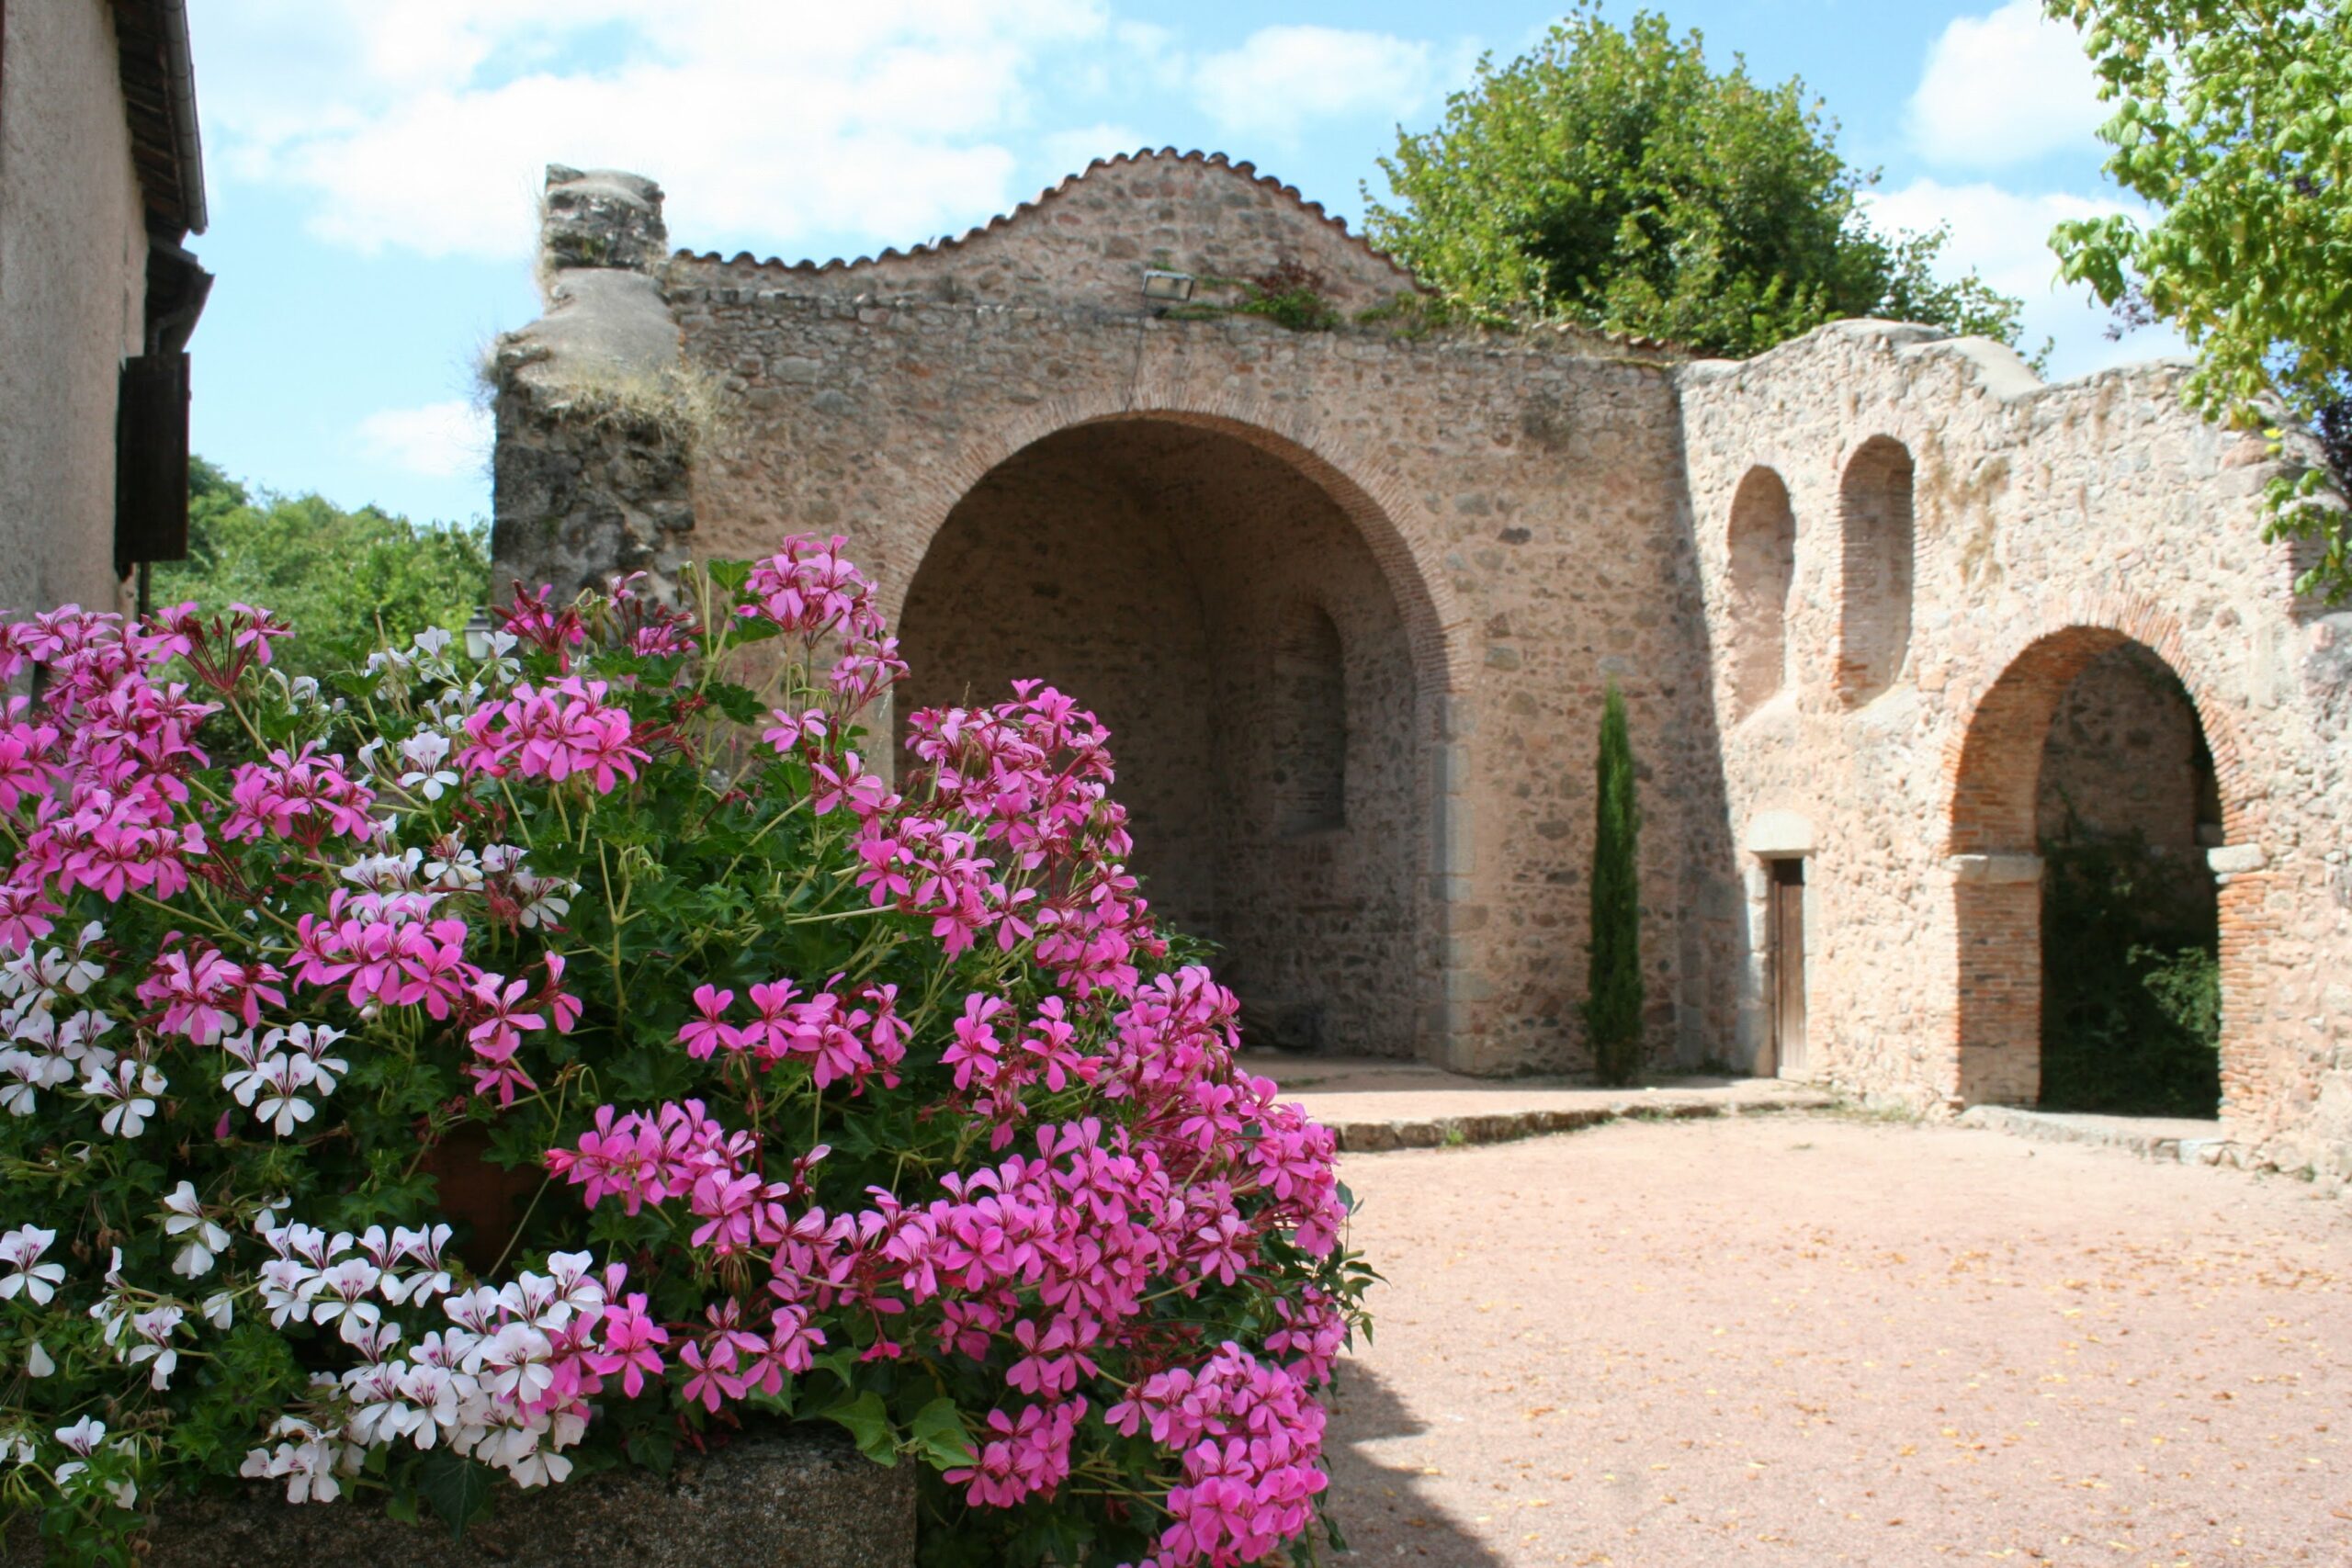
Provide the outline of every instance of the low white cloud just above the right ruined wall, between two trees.
<path id="1" fill-rule="evenodd" d="M 2089 287 L 2058 282 L 2058 256 L 2049 247 L 2051 228 L 2065 219 L 2110 212 L 2145 214 L 2133 202 L 2070 193 L 2020 195 L 1990 183 L 1945 186 L 1933 179 L 1870 193 L 1865 202 L 1879 228 L 1929 230 L 1950 223 L 1952 237 L 1936 270 L 1957 277 L 1976 268 L 2002 294 L 2020 296 L 2025 329 L 2018 336 L 2025 353 L 2034 353 L 2044 339 L 2051 341 L 2053 381 L 2107 364 L 2185 353 L 2180 336 L 2169 327 L 2147 327 L 2110 343 L 2107 308 Z"/>

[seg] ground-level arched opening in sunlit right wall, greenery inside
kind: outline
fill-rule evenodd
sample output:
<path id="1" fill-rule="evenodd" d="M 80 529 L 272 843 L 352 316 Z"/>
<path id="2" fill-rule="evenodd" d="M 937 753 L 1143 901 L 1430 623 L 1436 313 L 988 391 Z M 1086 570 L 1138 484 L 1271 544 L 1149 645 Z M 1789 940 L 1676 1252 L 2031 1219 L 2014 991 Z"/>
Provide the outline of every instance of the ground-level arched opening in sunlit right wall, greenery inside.
<path id="1" fill-rule="evenodd" d="M 2180 675 L 2070 628 L 1978 705 L 1952 799 L 1969 1100 L 2220 1110 L 2220 790 Z"/>

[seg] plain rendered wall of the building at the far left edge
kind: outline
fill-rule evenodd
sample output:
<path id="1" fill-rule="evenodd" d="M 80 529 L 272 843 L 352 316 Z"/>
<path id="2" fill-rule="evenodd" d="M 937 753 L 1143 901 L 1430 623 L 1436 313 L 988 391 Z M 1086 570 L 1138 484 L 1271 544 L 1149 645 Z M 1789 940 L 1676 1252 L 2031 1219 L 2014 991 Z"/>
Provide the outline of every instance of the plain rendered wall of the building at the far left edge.
<path id="1" fill-rule="evenodd" d="M 0 609 L 120 609 L 115 383 L 146 334 L 146 214 L 103 0 L 5 7 Z"/>

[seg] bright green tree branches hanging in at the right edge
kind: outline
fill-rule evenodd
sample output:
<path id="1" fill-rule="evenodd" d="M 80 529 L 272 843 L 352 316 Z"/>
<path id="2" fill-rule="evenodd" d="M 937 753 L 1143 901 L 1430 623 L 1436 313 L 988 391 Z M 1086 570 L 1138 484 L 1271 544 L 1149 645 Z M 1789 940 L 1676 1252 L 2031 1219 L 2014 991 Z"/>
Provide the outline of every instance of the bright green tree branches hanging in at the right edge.
<path id="1" fill-rule="evenodd" d="M 2317 428 L 2352 489 L 2352 7 L 2340 0 L 2046 0 L 2082 31 L 2107 174 L 2154 207 L 2051 235 L 2065 277 L 2173 322 L 2209 418 Z M 2272 522 L 2324 543 L 2303 588 L 2352 597 L 2326 465 L 2277 480 Z"/>

